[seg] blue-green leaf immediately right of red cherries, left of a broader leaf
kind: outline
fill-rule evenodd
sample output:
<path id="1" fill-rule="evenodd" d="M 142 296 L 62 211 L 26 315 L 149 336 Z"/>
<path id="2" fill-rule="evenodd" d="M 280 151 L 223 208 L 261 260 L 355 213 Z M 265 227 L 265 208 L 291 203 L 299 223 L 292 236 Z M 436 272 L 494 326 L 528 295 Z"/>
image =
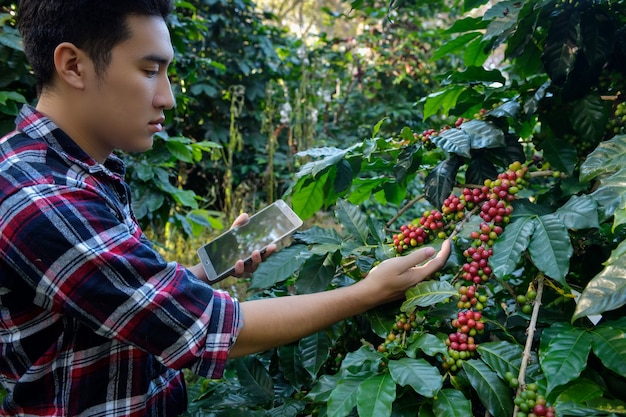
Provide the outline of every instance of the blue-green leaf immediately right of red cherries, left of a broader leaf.
<path id="1" fill-rule="evenodd" d="M 534 231 L 534 216 L 518 218 L 507 225 L 493 245 L 493 255 L 489 262 L 497 277 L 502 278 L 516 269 Z"/>

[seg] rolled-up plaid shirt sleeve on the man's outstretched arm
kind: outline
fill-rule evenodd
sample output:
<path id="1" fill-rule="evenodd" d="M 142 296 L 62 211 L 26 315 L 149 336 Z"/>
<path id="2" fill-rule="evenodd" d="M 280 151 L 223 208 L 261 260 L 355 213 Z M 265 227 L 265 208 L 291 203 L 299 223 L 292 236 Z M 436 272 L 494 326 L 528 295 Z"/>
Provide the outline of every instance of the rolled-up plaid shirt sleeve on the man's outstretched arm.
<path id="1" fill-rule="evenodd" d="M 242 327 L 236 300 L 166 262 L 96 192 L 41 184 L 3 206 L 0 254 L 35 305 L 170 368 L 221 376 Z"/>

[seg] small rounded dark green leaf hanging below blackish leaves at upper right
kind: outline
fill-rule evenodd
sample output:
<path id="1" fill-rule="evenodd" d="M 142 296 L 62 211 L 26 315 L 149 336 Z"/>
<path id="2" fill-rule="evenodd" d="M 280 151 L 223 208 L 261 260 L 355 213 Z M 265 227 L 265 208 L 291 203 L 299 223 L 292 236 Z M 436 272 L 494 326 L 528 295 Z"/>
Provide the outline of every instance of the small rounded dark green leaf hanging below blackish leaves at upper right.
<path id="1" fill-rule="evenodd" d="M 610 105 L 598 95 L 588 95 L 572 103 L 570 120 L 585 140 L 596 142 L 606 133 Z"/>

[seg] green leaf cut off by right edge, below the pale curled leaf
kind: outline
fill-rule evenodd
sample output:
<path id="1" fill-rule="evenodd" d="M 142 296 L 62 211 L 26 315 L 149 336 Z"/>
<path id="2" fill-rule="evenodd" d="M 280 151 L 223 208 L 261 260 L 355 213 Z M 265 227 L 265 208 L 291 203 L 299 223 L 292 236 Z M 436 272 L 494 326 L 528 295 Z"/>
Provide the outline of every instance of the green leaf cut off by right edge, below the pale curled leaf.
<path id="1" fill-rule="evenodd" d="M 626 375 L 626 318 L 605 322 L 591 332 L 593 353 L 604 366 Z"/>

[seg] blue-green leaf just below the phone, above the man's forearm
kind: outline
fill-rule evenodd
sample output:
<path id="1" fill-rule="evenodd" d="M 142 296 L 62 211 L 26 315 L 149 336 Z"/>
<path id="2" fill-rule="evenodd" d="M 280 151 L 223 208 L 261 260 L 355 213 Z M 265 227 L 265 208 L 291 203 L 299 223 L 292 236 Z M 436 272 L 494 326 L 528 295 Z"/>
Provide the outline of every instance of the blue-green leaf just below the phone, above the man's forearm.
<path id="1" fill-rule="evenodd" d="M 251 289 L 270 288 L 285 281 L 311 256 L 305 245 L 292 245 L 261 262 L 252 276 Z"/>

